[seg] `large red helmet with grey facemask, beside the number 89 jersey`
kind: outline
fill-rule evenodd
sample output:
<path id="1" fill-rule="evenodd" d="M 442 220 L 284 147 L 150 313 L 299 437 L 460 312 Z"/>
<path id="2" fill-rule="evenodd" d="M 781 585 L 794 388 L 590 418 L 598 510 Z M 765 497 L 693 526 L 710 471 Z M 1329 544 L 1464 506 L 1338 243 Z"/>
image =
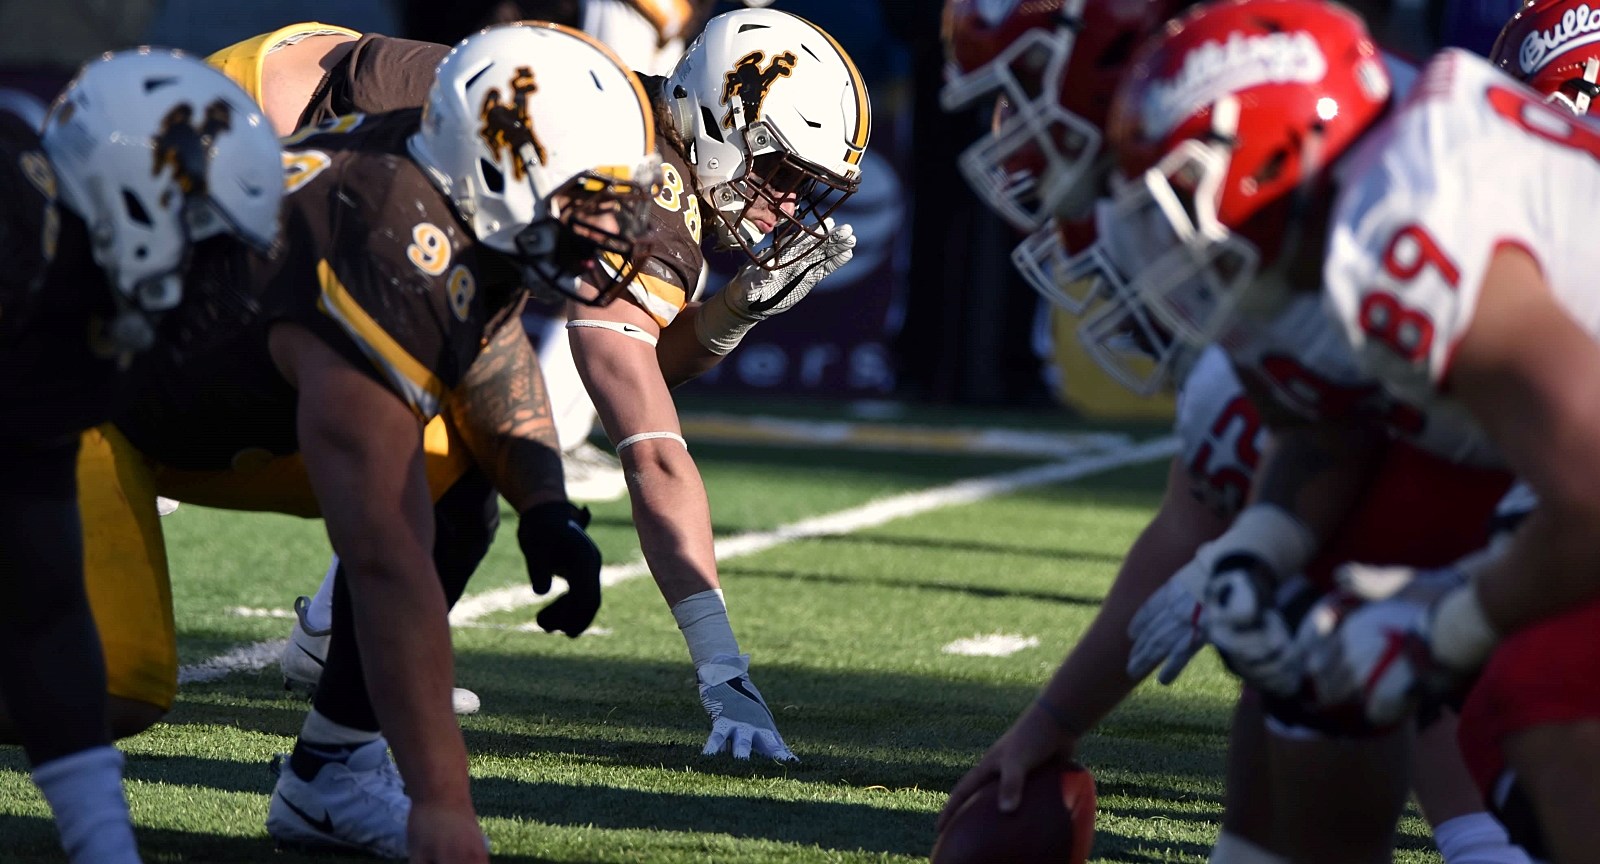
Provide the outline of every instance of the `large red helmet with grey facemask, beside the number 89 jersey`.
<path id="1" fill-rule="evenodd" d="M 1389 99 L 1378 46 L 1338 3 L 1224 0 L 1168 24 L 1112 101 L 1125 179 L 1078 256 L 1109 298 L 1083 323 L 1085 349 L 1154 392 L 1240 314 L 1280 307 L 1330 166 Z"/>

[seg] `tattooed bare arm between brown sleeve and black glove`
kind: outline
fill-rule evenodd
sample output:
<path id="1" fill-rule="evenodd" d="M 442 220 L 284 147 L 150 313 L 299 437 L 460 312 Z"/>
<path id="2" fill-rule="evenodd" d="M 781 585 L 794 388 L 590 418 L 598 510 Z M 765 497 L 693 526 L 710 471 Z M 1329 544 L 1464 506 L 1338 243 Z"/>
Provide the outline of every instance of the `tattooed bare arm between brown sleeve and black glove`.
<path id="1" fill-rule="evenodd" d="M 517 512 L 552 493 L 565 498 L 550 397 L 515 317 L 478 352 L 450 394 L 448 411 L 478 467 Z"/>

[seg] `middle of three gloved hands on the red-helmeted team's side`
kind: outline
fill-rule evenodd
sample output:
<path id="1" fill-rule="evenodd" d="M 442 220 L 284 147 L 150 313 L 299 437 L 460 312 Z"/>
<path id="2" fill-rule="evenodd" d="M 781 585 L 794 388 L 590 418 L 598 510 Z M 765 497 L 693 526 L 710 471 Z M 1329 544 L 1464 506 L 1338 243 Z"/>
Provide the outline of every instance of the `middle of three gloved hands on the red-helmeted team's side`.
<path id="1" fill-rule="evenodd" d="M 1206 640 L 1245 683 L 1293 696 L 1301 685 L 1301 654 L 1275 594 L 1277 574 L 1266 562 L 1227 555 L 1206 581 L 1202 622 Z"/>

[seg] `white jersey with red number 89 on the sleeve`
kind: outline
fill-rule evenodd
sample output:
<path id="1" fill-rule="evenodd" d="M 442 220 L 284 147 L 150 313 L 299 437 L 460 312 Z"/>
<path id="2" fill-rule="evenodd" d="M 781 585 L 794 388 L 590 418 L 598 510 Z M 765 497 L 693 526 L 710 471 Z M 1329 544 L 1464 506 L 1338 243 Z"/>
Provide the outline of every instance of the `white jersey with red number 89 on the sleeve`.
<path id="1" fill-rule="evenodd" d="M 1600 203 L 1600 128 L 1446 50 L 1339 181 L 1325 309 L 1392 395 L 1493 454 L 1438 384 L 1506 243 L 1526 250 L 1566 312 L 1600 334 L 1600 245 L 1581 230 Z"/>

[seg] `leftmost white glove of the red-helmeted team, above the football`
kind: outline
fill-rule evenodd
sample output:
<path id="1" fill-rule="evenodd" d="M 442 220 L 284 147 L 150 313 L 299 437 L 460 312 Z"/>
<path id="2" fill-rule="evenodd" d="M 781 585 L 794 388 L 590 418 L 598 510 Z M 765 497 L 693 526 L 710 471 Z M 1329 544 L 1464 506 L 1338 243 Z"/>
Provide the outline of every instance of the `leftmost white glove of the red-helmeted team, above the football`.
<path id="1" fill-rule="evenodd" d="M 1200 614 L 1205 610 L 1206 579 L 1211 576 L 1214 544 L 1203 544 L 1194 560 L 1186 563 L 1155 589 L 1128 622 L 1128 677 L 1142 680 L 1157 666 L 1162 683 L 1173 683 L 1184 666 L 1205 646 Z"/>

